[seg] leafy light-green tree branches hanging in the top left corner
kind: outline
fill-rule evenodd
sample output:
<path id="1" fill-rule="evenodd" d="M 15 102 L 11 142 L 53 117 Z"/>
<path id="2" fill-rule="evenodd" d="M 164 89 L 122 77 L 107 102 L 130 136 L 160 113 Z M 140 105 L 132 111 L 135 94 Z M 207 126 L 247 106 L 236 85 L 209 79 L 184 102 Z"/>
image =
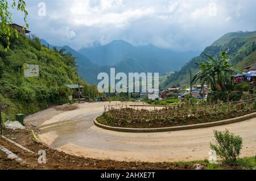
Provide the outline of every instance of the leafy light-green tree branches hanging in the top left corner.
<path id="1" fill-rule="evenodd" d="M 26 11 L 26 2 L 23 0 L 1 0 L 0 1 L 0 36 L 5 40 L 6 49 L 10 47 L 10 37 L 15 33 L 15 36 L 18 37 L 18 32 L 13 30 L 10 27 L 10 24 L 13 22 L 11 18 L 10 10 L 14 9 L 17 11 L 24 12 L 24 22 L 26 27 L 28 28 L 27 23 L 27 15 L 28 12 Z"/>

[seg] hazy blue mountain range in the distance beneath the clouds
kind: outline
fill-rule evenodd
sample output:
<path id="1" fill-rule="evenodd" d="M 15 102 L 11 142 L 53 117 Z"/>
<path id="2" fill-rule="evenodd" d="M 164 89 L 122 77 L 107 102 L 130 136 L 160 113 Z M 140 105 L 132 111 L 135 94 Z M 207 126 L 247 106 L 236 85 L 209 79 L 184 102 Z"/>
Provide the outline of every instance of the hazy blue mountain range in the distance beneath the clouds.
<path id="1" fill-rule="evenodd" d="M 46 47 L 46 40 L 41 40 Z M 53 49 L 53 45 L 49 48 Z M 162 49 L 154 45 L 134 46 L 123 40 L 115 40 L 107 45 L 94 44 L 90 48 L 80 50 L 71 47 L 56 47 L 65 49 L 76 57 L 79 75 L 88 83 L 97 84 L 98 73 L 109 73 L 110 68 L 116 72 L 130 73 L 167 73 L 179 70 L 188 60 L 199 52 L 177 53 L 170 49 Z"/>

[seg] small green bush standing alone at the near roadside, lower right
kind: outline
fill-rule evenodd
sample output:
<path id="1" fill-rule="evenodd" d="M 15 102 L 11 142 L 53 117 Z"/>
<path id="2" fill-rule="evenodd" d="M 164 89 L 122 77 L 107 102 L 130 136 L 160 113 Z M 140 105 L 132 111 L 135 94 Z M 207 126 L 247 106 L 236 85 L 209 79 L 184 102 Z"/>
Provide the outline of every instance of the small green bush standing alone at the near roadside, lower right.
<path id="1" fill-rule="evenodd" d="M 210 143 L 210 149 L 216 151 L 217 155 L 224 159 L 225 162 L 237 162 L 242 149 L 242 138 L 230 133 L 227 129 L 225 132 L 214 131 L 217 145 Z"/>

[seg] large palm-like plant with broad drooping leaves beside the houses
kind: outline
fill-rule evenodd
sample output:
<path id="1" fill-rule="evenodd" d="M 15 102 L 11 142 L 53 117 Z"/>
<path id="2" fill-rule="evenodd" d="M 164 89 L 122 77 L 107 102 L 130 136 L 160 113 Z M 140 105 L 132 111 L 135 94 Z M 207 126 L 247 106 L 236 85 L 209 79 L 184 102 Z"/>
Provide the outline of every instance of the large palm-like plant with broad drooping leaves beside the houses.
<path id="1" fill-rule="evenodd" d="M 220 59 L 214 60 L 213 57 L 205 54 L 209 61 L 197 64 L 200 71 L 195 75 L 192 83 L 200 81 L 202 85 L 209 83 L 212 90 L 221 89 L 222 91 L 228 90 L 230 86 L 230 75 L 232 73 L 240 72 L 240 70 L 230 65 L 230 60 L 227 58 L 228 51 L 221 52 Z"/>

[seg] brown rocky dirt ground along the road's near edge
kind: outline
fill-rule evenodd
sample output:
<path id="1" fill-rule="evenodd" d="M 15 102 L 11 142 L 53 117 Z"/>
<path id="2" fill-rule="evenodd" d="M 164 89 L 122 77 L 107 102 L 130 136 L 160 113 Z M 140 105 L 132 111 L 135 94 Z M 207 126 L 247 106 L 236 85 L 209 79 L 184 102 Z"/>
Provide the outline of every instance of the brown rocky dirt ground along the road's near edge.
<path id="1" fill-rule="evenodd" d="M 0 145 L 11 150 L 14 154 L 18 155 L 26 164 L 17 163 L 16 161 L 7 158 L 7 156 L 0 151 L 0 169 L 72 169 L 72 170 L 89 170 L 89 169 L 196 169 L 198 165 L 194 163 L 144 163 L 144 162 L 117 162 L 111 160 L 98 160 L 84 157 L 76 157 L 64 152 L 53 150 L 36 142 L 32 136 L 31 131 L 28 130 L 5 130 L 4 135 L 20 145 L 38 153 L 39 150 L 46 151 L 46 164 L 39 164 L 39 155 L 27 153 L 26 151 L 10 144 L 3 138 L 0 138 Z M 204 168 L 207 163 L 201 163 L 201 168 Z"/>

